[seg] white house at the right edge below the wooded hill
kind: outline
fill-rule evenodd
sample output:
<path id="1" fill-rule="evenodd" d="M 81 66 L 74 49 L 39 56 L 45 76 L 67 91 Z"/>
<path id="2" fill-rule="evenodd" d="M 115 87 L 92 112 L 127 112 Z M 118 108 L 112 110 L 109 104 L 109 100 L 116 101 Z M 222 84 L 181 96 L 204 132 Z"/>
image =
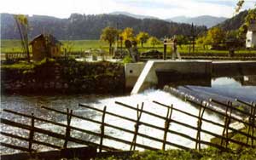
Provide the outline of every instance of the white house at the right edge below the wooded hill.
<path id="1" fill-rule="evenodd" d="M 253 21 L 253 23 L 251 23 L 251 25 L 248 26 L 246 47 L 256 47 L 256 21 Z"/>

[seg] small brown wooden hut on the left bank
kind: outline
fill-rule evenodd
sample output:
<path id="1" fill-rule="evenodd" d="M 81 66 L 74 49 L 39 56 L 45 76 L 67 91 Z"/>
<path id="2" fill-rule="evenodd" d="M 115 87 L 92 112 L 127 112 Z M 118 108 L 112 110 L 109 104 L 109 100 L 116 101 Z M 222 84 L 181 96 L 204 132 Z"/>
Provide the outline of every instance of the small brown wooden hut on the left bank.
<path id="1" fill-rule="evenodd" d="M 40 34 L 34 37 L 32 45 L 32 60 L 40 61 L 46 57 L 55 58 L 61 55 L 62 43 L 50 34 Z"/>

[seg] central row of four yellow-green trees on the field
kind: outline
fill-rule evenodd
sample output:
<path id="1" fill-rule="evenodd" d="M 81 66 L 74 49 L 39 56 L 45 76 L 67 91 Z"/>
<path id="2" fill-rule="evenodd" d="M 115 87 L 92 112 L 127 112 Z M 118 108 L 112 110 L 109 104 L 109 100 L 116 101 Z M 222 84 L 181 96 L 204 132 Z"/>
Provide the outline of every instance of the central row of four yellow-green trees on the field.
<path id="1" fill-rule="evenodd" d="M 113 43 L 119 41 L 120 43 L 125 42 L 125 40 L 135 41 L 140 43 L 142 48 L 143 44 L 149 42 L 151 45 L 155 46 L 160 43 L 157 37 L 150 37 L 148 32 L 140 31 L 135 35 L 131 27 L 125 28 L 123 31 L 118 30 L 114 27 L 106 27 L 102 30 L 101 40 L 108 42 L 109 48 L 112 48 Z"/>

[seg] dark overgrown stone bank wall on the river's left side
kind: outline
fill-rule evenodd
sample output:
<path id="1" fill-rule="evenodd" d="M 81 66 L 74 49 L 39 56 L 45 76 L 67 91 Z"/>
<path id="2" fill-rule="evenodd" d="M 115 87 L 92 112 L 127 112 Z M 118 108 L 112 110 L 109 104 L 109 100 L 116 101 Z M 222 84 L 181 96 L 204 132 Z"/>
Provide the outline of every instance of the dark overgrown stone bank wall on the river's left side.
<path id="1" fill-rule="evenodd" d="M 124 91 L 124 66 L 111 62 L 60 60 L 30 69 L 1 67 L 3 94 L 119 94 Z"/>

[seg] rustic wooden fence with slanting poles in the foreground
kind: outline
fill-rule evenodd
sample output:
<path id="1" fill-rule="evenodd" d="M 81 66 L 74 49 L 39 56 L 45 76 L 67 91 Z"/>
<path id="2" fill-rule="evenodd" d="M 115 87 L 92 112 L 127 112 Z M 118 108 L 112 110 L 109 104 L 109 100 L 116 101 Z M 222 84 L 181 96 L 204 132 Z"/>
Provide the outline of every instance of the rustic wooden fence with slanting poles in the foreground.
<path id="1" fill-rule="evenodd" d="M 189 103 L 192 103 L 195 106 L 199 106 L 199 112 L 197 115 L 191 114 L 187 111 L 182 111 L 180 109 L 178 109 L 177 107 L 171 105 L 171 106 L 167 106 L 166 104 L 160 103 L 158 101 L 153 101 L 155 104 L 159 105 L 160 107 L 165 107 L 166 108 L 166 117 L 158 115 L 154 112 L 150 112 L 150 111 L 145 111 L 143 110 L 143 106 L 144 104 L 142 103 L 141 106 L 137 105 L 137 107 L 134 106 L 129 106 L 127 104 L 121 103 L 116 101 L 115 103 L 117 105 L 119 105 L 120 107 L 125 107 L 128 108 L 130 110 L 133 111 L 137 111 L 137 119 L 131 118 L 131 117 L 126 117 L 125 115 L 119 115 L 113 112 L 108 111 L 107 106 L 105 106 L 103 108 L 103 110 L 95 108 L 95 107 L 91 107 L 91 106 L 86 106 L 83 104 L 79 104 L 80 107 L 85 108 L 85 109 L 90 109 L 93 111 L 97 111 L 100 112 L 102 114 L 102 121 L 98 121 L 89 117 L 82 117 L 79 115 L 76 115 L 73 113 L 73 110 L 69 110 L 67 109 L 67 111 L 60 111 L 60 110 L 56 110 L 53 108 L 49 108 L 47 106 L 42 106 L 43 109 L 47 110 L 47 111 L 54 111 L 55 113 L 64 115 L 67 117 L 67 124 L 63 124 L 63 123 L 57 123 L 54 121 L 49 121 L 46 120 L 44 118 L 40 118 L 40 117 L 35 117 L 33 115 L 33 113 L 31 115 L 25 114 L 25 113 L 20 113 L 17 111 L 11 111 L 8 109 L 3 109 L 4 112 L 8 112 L 9 114 L 15 114 L 18 115 L 20 117 L 28 117 L 31 119 L 31 123 L 30 124 L 23 124 L 23 123 L 16 123 L 14 121 L 11 121 L 9 119 L 6 118 L 1 118 L 1 124 L 5 124 L 5 125 L 9 125 L 12 127 L 16 127 L 16 128 L 20 128 L 20 129 L 26 129 L 29 131 L 29 136 L 27 138 L 21 137 L 19 135 L 15 135 L 15 134 L 9 134 L 9 133 L 5 133 L 3 131 L 0 132 L 0 134 L 4 135 L 4 136 L 8 136 L 10 138 L 15 138 L 18 140 L 25 140 L 28 142 L 28 147 L 21 147 L 21 146 L 15 146 L 12 144 L 7 144 L 4 142 L 1 142 L 0 145 L 1 146 L 5 146 L 5 147 L 9 147 L 9 148 L 13 148 L 15 150 L 20 150 L 20 151 L 28 151 L 28 152 L 33 152 L 35 151 L 32 147 L 33 144 L 38 144 L 38 145 L 43 145 L 43 146 L 49 146 L 51 148 L 54 149 L 65 149 L 67 148 L 67 143 L 68 142 L 75 142 L 77 144 L 80 145 L 84 145 L 84 146 L 91 146 L 91 147 L 96 147 L 99 149 L 99 151 L 120 151 L 119 148 L 114 148 L 112 146 L 106 146 L 104 145 L 104 140 L 108 139 L 108 140 L 114 140 L 116 142 L 120 142 L 123 143 L 125 145 L 129 145 L 130 146 L 130 150 L 134 151 L 136 150 L 137 147 L 139 148 L 143 148 L 146 150 L 166 150 L 166 145 L 168 146 L 174 146 L 176 148 L 179 149 L 183 149 L 183 150 L 190 150 L 190 148 L 188 146 L 182 146 L 179 144 L 176 144 L 170 140 L 167 140 L 167 136 L 170 134 L 176 134 L 180 137 L 183 137 L 185 139 L 191 140 L 195 142 L 195 149 L 196 150 L 201 150 L 201 145 L 206 145 L 206 146 L 212 146 L 215 148 L 218 148 L 219 150 L 223 150 L 223 151 L 230 151 L 229 148 L 229 144 L 230 143 L 234 143 L 236 145 L 239 146 L 246 146 L 246 147 L 250 147 L 250 146 L 255 146 L 254 145 L 254 141 L 256 140 L 256 137 L 254 136 L 254 129 L 255 129 L 255 113 L 256 113 L 256 106 L 254 103 L 248 103 L 242 100 L 236 100 L 237 102 L 239 102 L 242 106 L 249 106 L 251 107 L 251 111 L 250 113 L 247 113 L 245 111 L 241 111 L 239 109 L 237 109 L 236 107 L 232 106 L 232 102 L 228 102 L 227 104 L 219 102 L 218 100 L 211 100 L 212 102 L 220 105 L 220 106 L 224 106 L 226 107 L 225 112 L 222 111 L 215 111 L 213 110 L 211 107 L 208 106 L 208 103 L 205 102 L 195 102 L 194 100 L 187 100 Z M 196 126 L 192 126 L 188 123 L 185 122 L 181 122 L 181 121 L 177 121 L 175 120 L 173 117 L 173 111 L 178 111 L 184 115 L 187 115 L 189 117 L 194 117 L 197 119 L 197 125 Z M 218 122 L 213 122 L 211 120 L 208 120 L 204 117 L 204 113 L 205 111 L 211 111 L 212 113 L 218 114 L 219 116 L 224 117 L 224 124 L 223 123 L 218 123 Z M 232 114 L 232 111 L 239 111 L 241 114 L 244 114 L 245 117 L 247 117 L 247 120 L 243 120 L 241 118 L 236 117 L 234 114 Z M 165 121 L 165 123 L 163 124 L 163 126 L 157 126 L 154 125 L 152 123 L 146 123 L 141 121 L 141 117 L 142 114 L 147 114 L 149 116 L 153 116 L 159 119 L 162 119 Z M 117 117 L 120 118 L 122 120 L 125 121 L 129 121 L 130 123 L 134 124 L 134 130 L 131 129 L 125 129 L 125 126 L 116 126 L 110 123 L 106 123 L 105 118 L 107 116 L 112 116 L 112 117 Z M 78 127 L 73 127 L 71 126 L 71 121 L 73 119 L 73 117 L 90 122 L 90 123 L 95 123 L 97 125 L 100 125 L 100 133 L 96 133 L 94 131 L 88 130 L 88 129 L 81 129 Z M 56 126 L 60 126 L 64 129 L 66 129 L 65 134 L 58 134 L 46 129 L 40 129 L 37 126 L 35 126 L 35 121 L 40 121 L 43 123 L 49 123 L 49 124 L 53 124 Z M 247 131 L 245 132 L 244 129 L 243 130 L 239 130 L 239 129 L 234 129 L 230 126 L 230 123 L 234 123 L 234 122 L 239 122 L 239 123 L 243 123 L 245 126 L 247 126 Z M 184 134 L 184 133 L 179 133 L 175 130 L 173 130 L 171 127 L 171 123 L 176 123 L 180 126 L 189 128 L 189 129 L 193 129 L 196 131 L 196 136 L 192 137 L 188 134 Z M 206 129 L 202 129 L 202 123 L 211 123 L 212 125 L 221 127 L 223 129 L 222 134 L 216 134 L 213 133 L 210 130 L 206 130 Z M 140 126 L 146 126 L 152 129 L 158 129 L 161 132 L 164 133 L 164 136 L 162 137 L 162 139 L 160 138 L 156 138 L 154 135 L 150 135 L 148 134 L 142 134 L 140 133 Z M 171 126 L 171 127 L 170 127 Z M 120 131 L 123 131 L 125 133 L 129 133 L 129 134 L 133 134 L 133 138 L 132 140 L 123 140 L 119 137 L 114 137 L 113 135 L 109 135 L 106 134 L 105 132 L 105 128 L 111 128 L 111 129 L 118 129 Z M 90 141 L 90 140 L 83 140 L 83 139 L 79 139 L 79 138 L 75 138 L 72 135 L 72 131 L 79 131 L 81 133 L 85 133 L 85 134 L 90 134 L 93 136 L 96 136 L 99 138 L 99 143 L 96 143 L 95 141 Z M 230 131 L 232 132 L 236 132 L 238 134 L 241 134 L 243 136 L 247 137 L 247 141 L 240 141 L 240 140 L 234 140 L 230 137 Z M 50 137 L 54 137 L 57 138 L 59 140 L 64 140 L 63 146 L 56 146 L 55 144 L 49 144 L 47 142 L 44 141 L 39 141 L 39 140 L 35 140 L 35 133 L 39 133 L 39 134 L 46 134 Z M 212 135 L 213 137 L 218 138 L 218 142 L 211 142 L 211 141 L 205 141 L 205 140 L 201 140 L 201 134 L 208 134 L 208 135 Z M 137 142 L 137 137 L 143 137 L 147 140 L 153 140 L 155 142 L 159 142 L 162 144 L 161 148 L 156 148 L 153 146 L 147 146 L 146 144 L 141 144 Z"/>

